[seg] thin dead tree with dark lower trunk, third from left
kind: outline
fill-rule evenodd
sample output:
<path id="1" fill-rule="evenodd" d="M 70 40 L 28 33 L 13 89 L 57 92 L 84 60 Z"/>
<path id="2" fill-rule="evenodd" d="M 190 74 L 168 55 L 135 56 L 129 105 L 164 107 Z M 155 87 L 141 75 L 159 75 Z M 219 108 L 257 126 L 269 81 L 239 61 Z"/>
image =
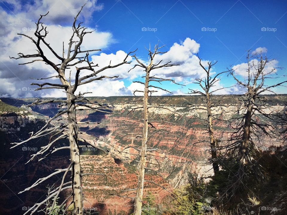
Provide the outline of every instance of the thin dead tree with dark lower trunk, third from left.
<path id="1" fill-rule="evenodd" d="M 218 90 L 226 89 L 229 87 L 222 87 L 222 88 L 216 88 L 216 83 L 220 81 L 220 75 L 228 73 L 229 71 L 224 71 L 217 73 L 214 77 L 210 75 L 212 67 L 217 63 L 214 62 L 207 62 L 207 68 L 202 65 L 201 63 L 201 58 L 199 58 L 198 54 L 197 57 L 199 59 L 199 65 L 201 68 L 204 70 L 206 73 L 204 78 L 200 79 L 195 79 L 194 84 L 199 85 L 201 90 L 191 90 L 190 93 L 188 94 L 196 94 L 196 95 L 201 95 L 202 101 L 205 103 L 205 106 L 201 105 L 194 105 L 194 104 L 188 104 L 192 106 L 189 110 L 205 110 L 207 113 L 207 119 L 200 119 L 204 120 L 204 122 L 207 123 L 208 127 L 208 133 L 209 133 L 209 144 L 210 144 L 210 151 L 211 151 L 211 159 L 210 163 L 212 163 L 213 166 L 213 172 L 216 175 L 219 171 L 219 162 L 217 158 L 217 148 L 218 148 L 218 138 L 215 137 L 214 135 L 214 128 L 213 128 L 213 121 L 216 120 L 216 114 L 213 112 L 214 108 L 219 108 L 219 107 L 228 107 L 228 105 L 222 104 L 222 102 L 225 99 L 225 96 L 218 96 L 218 98 L 212 98 L 213 93 L 217 92 Z"/>

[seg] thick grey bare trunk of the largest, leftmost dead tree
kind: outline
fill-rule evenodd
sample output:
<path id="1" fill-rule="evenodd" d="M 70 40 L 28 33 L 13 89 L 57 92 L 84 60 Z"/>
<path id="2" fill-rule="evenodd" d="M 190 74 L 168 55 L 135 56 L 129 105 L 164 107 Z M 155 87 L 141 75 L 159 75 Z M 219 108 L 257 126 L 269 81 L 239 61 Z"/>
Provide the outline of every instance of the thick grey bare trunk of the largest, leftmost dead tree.
<path id="1" fill-rule="evenodd" d="M 75 97 L 72 89 L 67 93 L 67 108 L 68 108 L 68 132 L 70 142 L 71 162 L 74 162 L 72 168 L 72 190 L 74 201 L 74 215 L 83 215 L 83 191 L 82 191 L 82 176 L 80 166 L 80 151 L 78 147 L 78 125 L 76 119 Z"/>

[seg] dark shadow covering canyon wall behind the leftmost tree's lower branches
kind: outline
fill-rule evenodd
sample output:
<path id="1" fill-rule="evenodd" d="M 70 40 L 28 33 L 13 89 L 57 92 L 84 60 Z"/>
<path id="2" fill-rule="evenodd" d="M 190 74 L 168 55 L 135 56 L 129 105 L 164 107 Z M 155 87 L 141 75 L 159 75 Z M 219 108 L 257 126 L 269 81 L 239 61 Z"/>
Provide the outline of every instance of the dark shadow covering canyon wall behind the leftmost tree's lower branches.
<path id="1" fill-rule="evenodd" d="M 46 198 L 48 186 L 51 187 L 53 184 L 57 186 L 61 182 L 62 174 L 58 174 L 43 184 L 39 184 L 36 188 L 18 194 L 31 186 L 37 179 L 50 175 L 55 169 L 67 168 L 69 165 L 69 152 L 65 150 L 40 162 L 38 159 L 41 157 L 36 157 L 25 164 L 33 153 L 36 153 L 42 145 L 48 142 L 48 137 L 35 139 L 10 149 L 12 142 L 29 138 L 29 132 L 37 131 L 43 123 L 43 121 L 30 122 L 25 126 L 15 123 L 11 125 L 10 131 L 0 131 L 0 214 L 24 214 L 35 202 L 43 201 Z M 57 147 L 63 144 L 64 142 L 59 143 Z"/>

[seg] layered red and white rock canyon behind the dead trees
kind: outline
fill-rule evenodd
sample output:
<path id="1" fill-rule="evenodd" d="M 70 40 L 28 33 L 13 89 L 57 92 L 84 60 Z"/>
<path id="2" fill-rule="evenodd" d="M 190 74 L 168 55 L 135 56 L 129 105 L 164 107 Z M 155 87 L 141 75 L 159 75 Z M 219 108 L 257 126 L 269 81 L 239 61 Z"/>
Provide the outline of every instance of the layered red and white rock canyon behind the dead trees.
<path id="1" fill-rule="evenodd" d="M 272 110 L 280 110 L 287 101 L 286 95 L 270 96 Z M 77 120 L 80 130 L 95 138 L 88 141 L 108 149 L 106 154 L 95 148 L 81 149 L 81 160 L 84 173 L 105 173 L 104 176 L 89 175 L 83 177 L 84 204 L 86 210 L 99 212 L 99 214 L 130 214 L 132 212 L 132 199 L 135 196 L 138 163 L 138 151 L 142 133 L 141 110 L 132 96 L 90 97 L 93 102 L 104 104 L 113 108 L 116 114 L 92 112 L 90 110 L 77 111 Z M 35 99 L 1 98 L 2 102 L 25 109 L 18 113 L 1 113 L 1 214 L 23 214 L 25 209 L 46 196 L 48 189 L 55 180 L 48 181 L 32 191 L 17 194 L 33 184 L 39 177 L 47 176 L 57 168 L 66 168 L 69 165 L 69 152 L 59 151 L 52 156 L 38 162 L 37 159 L 25 164 L 33 151 L 22 147 L 10 149 L 10 143 L 29 137 L 29 132 L 36 131 L 49 117 L 57 113 L 57 104 L 37 105 L 28 108 Z M 156 202 L 163 208 L 168 208 L 170 193 L 174 188 L 187 183 L 188 173 L 199 172 L 202 176 L 212 175 L 211 165 L 207 165 L 209 157 L 208 133 L 201 119 L 206 118 L 204 110 L 190 110 L 193 105 L 204 105 L 200 96 L 156 96 L 151 102 L 149 115 L 152 129 L 160 132 L 154 133 L 149 139 L 149 148 L 155 148 L 148 155 L 145 195 L 148 191 L 155 195 Z M 240 112 L 240 103 L 233 96 L 227 96 L 227 107 L 214 110 L 217 119 L 214 120 L 215 136 L 224 142 L 230 137 L 232 127 L 226 120 L 232 119 Z M 198 106 L 200 107 L 200 106 Z M 64 107 L 62 107 L 64 108 Z M 1 111 L 1 110 L 0 110 Z M 267 111 L 267 110 L 266 110 Z M 271 110 L 269 110 L 271 111 Z M 63 117 L 65 120 L 65 116 Z M 154 122 L 152 122 L 154 121 Z M 57 125 L 58 122 L 53 122 Z M 89 124 L 98 123 L 98 124 Z M 29 142 L 23 147 L 40 148 L 48 141 L 42 138 L 39 141 Z M 60 142 L 59 145 L 65 145 Z M 276 140 L 262 137 L 258 147 L 277 145 Z M 128 146 L 132 146 L 127 148 Z M 60 177 L 59 177 L 60 178 Z M 65 193 L 60 196 L 65 197 Z"/>

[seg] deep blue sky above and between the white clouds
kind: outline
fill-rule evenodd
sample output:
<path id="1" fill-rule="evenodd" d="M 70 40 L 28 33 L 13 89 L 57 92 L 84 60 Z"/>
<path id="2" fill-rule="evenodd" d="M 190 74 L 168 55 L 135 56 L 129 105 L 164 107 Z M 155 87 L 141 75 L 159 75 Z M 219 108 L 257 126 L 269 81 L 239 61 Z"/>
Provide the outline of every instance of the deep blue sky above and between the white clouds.
<path id="1" fill-rule="evenodd" d="M 93 10 L 89 10 L 87 16 L 84 14 L 83 20 L 85 26 L 96 28 L 98 33 L 108 32 L 112 35 L 111 41 L 102 47 L 103 53 L 115 54 L 119 50 L 129 52 L 138 48 L 137 56 L 146 60 L 144 46 L 149 43 L 153 46 L 159 41 L 160 45 L 166 44 L 163 51 L 169 51 L 174 43 L 181 44 L 190 38 L 200 44 L 201 58 L 218 61 L 213 70 L 215 72 L 245 62 L 246 50 L 258 47 L 266 47 L 267 56 L 276 58 L 277 66 L 285 67 L 278 71 L 279 75 L 287 71 L 287 1 L 94 0 L 93 3 Z M 3 1 L 0 6 L 7 13 L 6 16 L 13 17 L 25 14 L 27 5 L 44 11 L 47 8 L 45 4 L 45 1 L 21 1 L 22 6 L 16 8 L 15 4 Z M 54 4 L 56 7 L 63 4 L 63 10 L 68 8 L 65 8 L 65 1 L 55 0 Z M 74 10 L 67 10 L 66 13 L 73 15 Z M 27 12 L 25 17 L 35 21 L 36 16 L 30 16 Z M 71 25 L 71 19 L 67 17 L 56 18 L 48 20 L 47 24 Z M 154 31 L 143 31 L 142 28 Z M 94 44 L 94 48 L 97 48 L 96 41 Z M 128 87 L 135 79 L 123 78 L 121 81 Z M 221 78 L 223 86 L 233 83 L 230 77 Z M 173 91 L 178 89 L 178 85 L 167 84 L 166 87 Z M 181 92 L 186 93 L 188 88 L 194 87 L 189 83 L 181 88 Z M 277 92 L 287 93 L 286 87 L 280 87 Z"/>

